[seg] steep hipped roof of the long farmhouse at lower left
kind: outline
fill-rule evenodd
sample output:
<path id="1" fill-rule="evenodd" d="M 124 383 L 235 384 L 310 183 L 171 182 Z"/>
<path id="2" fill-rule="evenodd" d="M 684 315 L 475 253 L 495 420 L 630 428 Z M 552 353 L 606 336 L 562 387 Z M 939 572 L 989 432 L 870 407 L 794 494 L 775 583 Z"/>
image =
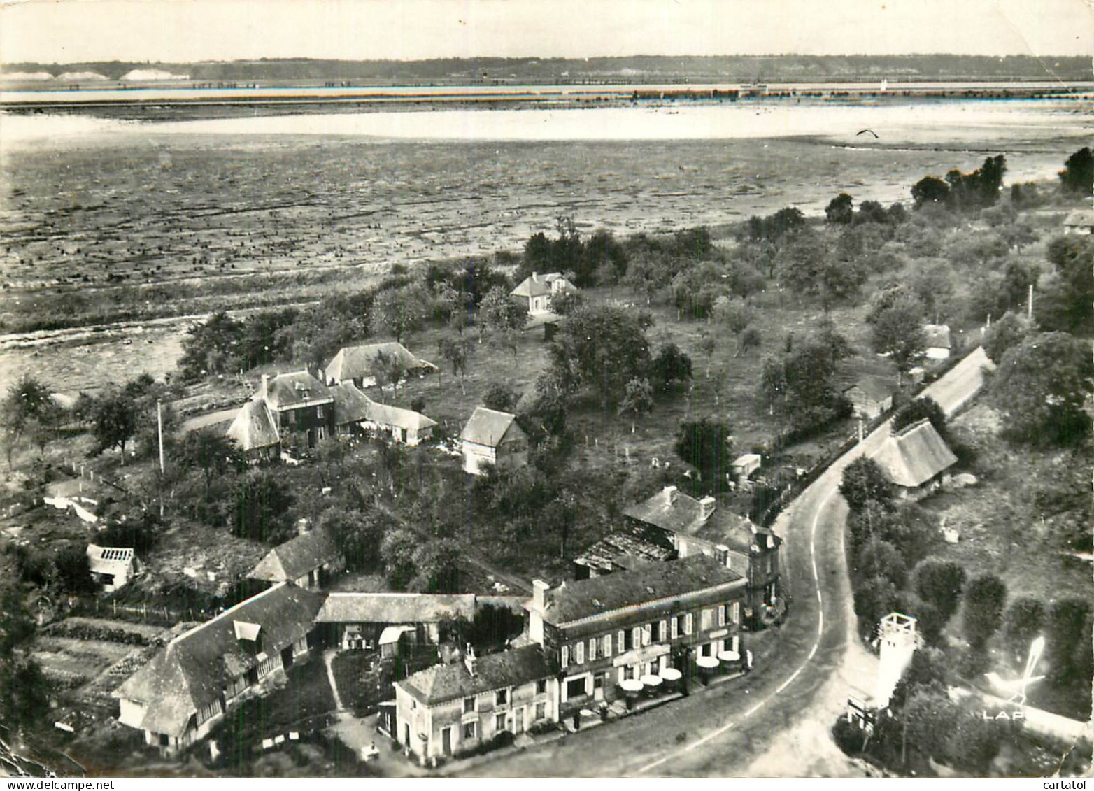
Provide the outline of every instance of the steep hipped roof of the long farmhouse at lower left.
<path id="1" fill-rule="evenodd" d="M 259 625 L 263 651 L 277 656 L 312 630 L 319 601 L 293 585 L 275 585 L 176 637 L 114 696 L 147 707 L 141 729 L 182 736 L 198 709 L 219 699 L 229 682 L 258 664 L 236 638 L 235 621 Z"/>

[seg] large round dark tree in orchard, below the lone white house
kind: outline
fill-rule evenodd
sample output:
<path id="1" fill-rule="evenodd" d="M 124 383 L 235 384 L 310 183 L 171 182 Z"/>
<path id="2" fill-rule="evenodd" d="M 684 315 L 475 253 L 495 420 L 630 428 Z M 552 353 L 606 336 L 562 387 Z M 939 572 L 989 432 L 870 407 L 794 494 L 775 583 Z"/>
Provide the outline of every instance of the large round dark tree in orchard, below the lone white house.
<path id="1" fill-rule="evenodd" d="M 584 306 L 567 316 L 550 346 L 550 372 L 568 393 L 593 389 L 601 407 L 618 404 L 627 383 L 650 369 L 642 319 L 613 306 Z"/>

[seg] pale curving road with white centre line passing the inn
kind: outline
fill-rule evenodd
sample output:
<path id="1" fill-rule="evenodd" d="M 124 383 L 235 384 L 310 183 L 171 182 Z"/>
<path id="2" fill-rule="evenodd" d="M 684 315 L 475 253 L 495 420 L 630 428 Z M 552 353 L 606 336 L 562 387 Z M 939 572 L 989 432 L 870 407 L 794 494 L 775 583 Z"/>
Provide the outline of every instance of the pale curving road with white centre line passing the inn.
<path id="1" fill-rule="evenodd" d="M 926 395 L 952 414 L 982 384 L 979 349 Z M 643 714 L 475 767 L 476 777 L 835 776 L 861 773 L 827 737 L 852 683 L 872 679 L 874 660 L 854 633 L 843 554 L 843 468 L 874 453 L 888 422 L 840 457 L 776 521 L 785 538 L 790 618 L 744 678 Z M 770 650 L 767 650 L 767 649 Z M 868 682 L 869 683 L 869 682 Z"/>

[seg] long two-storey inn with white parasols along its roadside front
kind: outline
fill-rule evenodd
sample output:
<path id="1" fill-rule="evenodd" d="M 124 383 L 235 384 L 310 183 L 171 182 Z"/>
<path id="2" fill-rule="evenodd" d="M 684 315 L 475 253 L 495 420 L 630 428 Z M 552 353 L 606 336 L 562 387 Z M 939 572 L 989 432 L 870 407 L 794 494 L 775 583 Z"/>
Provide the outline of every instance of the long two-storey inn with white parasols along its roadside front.
<path id="1" fill-rule="evenodd" d="M 563 582 L 533 582 L 527 638 L 561 671 L 560 717 L 657 687 L 698 661 L 740 668 L 745 578 L 706 555 Z"/>

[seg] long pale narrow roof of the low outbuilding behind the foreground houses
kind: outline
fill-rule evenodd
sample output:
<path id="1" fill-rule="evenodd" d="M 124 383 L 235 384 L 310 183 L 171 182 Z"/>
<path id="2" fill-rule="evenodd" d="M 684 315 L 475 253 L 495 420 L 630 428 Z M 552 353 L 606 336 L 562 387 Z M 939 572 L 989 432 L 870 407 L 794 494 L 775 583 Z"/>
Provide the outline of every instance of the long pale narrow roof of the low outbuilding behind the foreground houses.
<path id="1" fill-rule="evenodd" d="M 435 624 L 475 616 L 475 595 L 429 593 L 331 593 L 319 608 L 321 624 Z"/>

